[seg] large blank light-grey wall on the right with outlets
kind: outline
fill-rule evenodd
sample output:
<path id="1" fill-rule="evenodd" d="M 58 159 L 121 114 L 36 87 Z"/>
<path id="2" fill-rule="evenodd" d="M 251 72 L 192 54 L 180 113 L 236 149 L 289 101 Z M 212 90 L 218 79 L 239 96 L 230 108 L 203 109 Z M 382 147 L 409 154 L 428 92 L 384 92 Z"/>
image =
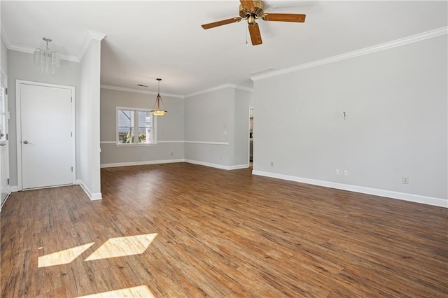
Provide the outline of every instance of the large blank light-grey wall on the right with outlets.
<path id="1" fill-rule="evenodd" d="M 254 173 L 448 206 L 446 35 L 254 89 Z"/>

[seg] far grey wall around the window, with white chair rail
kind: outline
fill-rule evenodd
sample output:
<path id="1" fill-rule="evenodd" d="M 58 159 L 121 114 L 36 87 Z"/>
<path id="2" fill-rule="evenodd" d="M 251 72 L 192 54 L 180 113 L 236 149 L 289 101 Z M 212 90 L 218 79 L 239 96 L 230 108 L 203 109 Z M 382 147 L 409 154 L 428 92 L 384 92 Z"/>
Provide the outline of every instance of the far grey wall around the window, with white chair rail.
<path id="1" fill-rule="evenodd" d="M 117 146 L 116 108 L 153 108 L 156 95 L 102 88 L 101 93 L 101 164 L 117 166 L 176 162 L 184 159 L 184 100 L 161 94 L 168 113 L 156 117 L 157 145 Z"/>

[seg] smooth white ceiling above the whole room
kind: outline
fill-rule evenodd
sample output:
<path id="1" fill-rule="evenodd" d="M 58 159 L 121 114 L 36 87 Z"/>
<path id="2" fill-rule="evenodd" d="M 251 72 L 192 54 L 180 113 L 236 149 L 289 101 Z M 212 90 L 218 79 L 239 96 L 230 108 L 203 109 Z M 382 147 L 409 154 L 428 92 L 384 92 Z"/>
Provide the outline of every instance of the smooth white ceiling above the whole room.
<path id="1" fill-rule="evenodd" d="M 265 1 L 265 12 L 304 13 L 304 23 L 258 20 L 262 45 L 246 46 L 239 1 L 1 1 L 8 48 L 50 48 L 76 61 L 87 30 L 102 41 L 103 85 L 188 95 L 251 73 L 285 69 L 447 26 L 447 1 Z M 148 85 L 148 88 L 137 87 Z"/>

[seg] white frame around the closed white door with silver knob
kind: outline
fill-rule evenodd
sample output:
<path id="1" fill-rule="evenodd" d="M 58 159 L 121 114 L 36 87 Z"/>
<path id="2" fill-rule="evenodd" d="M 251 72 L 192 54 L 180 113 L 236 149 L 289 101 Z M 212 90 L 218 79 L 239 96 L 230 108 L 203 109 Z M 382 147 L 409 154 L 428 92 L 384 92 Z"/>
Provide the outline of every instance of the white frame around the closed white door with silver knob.
<path id="1" fill-rule="evenodd" d="M 17 125 L 17 187 L 18 190 L 22 190 L 22 100 L 20 94 L 20 85 L 35 85 L 40 87 L 53 87 L 61 89 L 71 90 L 71 131 L 73 137 L 71 138 L 71 148 L 72 148 L 72 164 L 73 173 L 71 176 L 71 183 L 76 184 L 76 120 L 75 120 L 75 110 L 76 110 L 76 96 L 75 87 L 67 85 L 57 85 L 50 83 L 40 83 L 33 82 L 30 80 L 15 80 L 15 113 L 16 113 L 16 125 Z"/>

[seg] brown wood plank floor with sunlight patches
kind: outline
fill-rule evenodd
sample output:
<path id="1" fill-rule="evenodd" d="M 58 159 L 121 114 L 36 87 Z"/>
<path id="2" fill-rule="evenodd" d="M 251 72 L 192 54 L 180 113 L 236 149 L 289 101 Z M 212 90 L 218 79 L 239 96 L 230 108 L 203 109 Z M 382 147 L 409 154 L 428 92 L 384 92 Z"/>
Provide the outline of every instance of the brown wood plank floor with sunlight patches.
<path id="1" fill-rule="evenodd" d="M 186 163 L 102 194 L 10 195 L 1 297 L 448 297 L 448 208 Z"/>

